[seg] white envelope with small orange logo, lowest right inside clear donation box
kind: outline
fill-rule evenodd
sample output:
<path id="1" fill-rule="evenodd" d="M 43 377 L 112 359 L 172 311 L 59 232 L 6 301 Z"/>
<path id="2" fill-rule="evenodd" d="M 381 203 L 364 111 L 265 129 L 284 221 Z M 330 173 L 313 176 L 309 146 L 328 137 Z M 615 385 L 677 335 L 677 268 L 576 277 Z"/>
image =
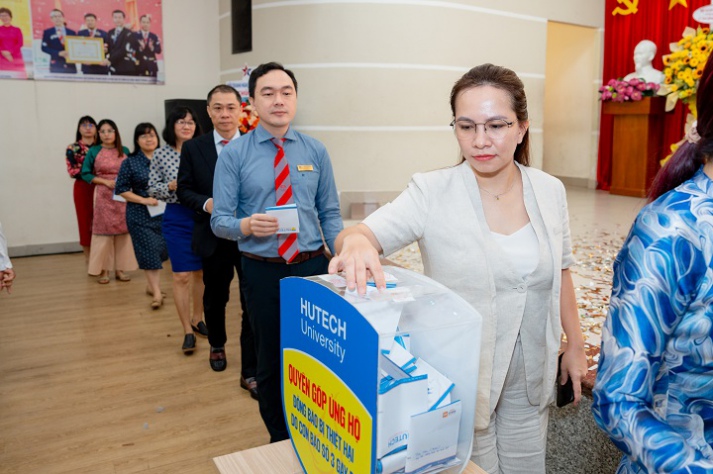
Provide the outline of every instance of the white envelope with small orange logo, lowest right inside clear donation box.
<path id="1" fill-rule="evenodd" d="M 460 400 L 411 417 L 406 474 L 421 474 L 460 463 L 456 458 L 460 419 Z"/>

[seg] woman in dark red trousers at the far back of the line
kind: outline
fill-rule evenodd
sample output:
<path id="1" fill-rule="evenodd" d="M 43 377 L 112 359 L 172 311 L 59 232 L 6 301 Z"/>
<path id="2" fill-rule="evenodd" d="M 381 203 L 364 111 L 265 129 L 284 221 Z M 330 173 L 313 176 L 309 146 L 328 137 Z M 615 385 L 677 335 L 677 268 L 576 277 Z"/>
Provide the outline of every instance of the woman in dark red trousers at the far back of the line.
<path id="1" fill-rule="evenodd" d="M 67 147 L 65 161 L 69 177 L 74 179 L 74 209 L 79 226 L 79 245 L 84 258 L 89 259 L 92 242 L 92 216 L 94 214 L 94 185 L 81 179 L 82 163 L 91 147 L 98 143 L 97 123 L 89 115 L 79 119 L 75 142 Z"/>

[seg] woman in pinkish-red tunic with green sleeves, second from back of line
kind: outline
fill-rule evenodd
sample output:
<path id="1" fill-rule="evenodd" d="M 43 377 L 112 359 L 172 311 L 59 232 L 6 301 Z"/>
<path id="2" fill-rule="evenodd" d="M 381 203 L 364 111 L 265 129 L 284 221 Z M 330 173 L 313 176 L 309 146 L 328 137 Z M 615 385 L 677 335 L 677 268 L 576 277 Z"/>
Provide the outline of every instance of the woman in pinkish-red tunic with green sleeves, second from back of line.
<path id="1" fill-rule="evenodd" d="M 94 220 L 89 251 L 90 275 L 98 275 L 100 284 L 109 283 L 109 272 L 116 269 L 118 281 L 131 281 L 125 271 L 138 266 L 126 227 L 126 201 L 114 195 L 116 175 L 129 149 L 121 145 L 121 135 L 114 121 L 99 122 L 101 145 L 89 149 L 82 163 L 82 179 L 95 184 Z"/>

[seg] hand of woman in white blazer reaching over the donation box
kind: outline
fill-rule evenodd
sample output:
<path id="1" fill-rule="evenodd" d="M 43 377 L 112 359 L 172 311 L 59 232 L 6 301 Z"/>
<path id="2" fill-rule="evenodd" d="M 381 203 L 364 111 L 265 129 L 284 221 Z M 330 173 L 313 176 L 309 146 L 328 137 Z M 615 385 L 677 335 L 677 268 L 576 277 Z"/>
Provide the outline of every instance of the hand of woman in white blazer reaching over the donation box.
<path id="1" fill-rule="evenodd" d="M 341 238 L 340 238 L 341 237 Z M 373 241 L 372 241 L 373 239 Z M 341 250 L 329 262 L 329 273 L 344 272 L 347 288 L 350 291 L 357 289 L 360 295 L 366 294 L 366 282 L 369 278 L 379 290 L 386 288 L 384 270 L 379 261 L 381 248 L 371 230 L 363 224 L 342 231 L 337 237 L 337 248 Z"/>

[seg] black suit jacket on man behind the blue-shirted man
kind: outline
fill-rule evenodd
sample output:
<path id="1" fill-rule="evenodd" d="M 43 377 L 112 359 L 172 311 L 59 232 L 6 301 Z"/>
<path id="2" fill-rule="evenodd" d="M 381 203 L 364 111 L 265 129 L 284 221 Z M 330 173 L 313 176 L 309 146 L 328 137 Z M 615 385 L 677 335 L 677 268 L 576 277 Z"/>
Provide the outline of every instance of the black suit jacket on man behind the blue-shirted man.
<path id="1" fill-rule="evenodd" d="M 218 154 L 213 143 L 213 132 L 188 140 L 181 147 L 178 167 L 178 200 L 192 209 L 193 251 L 203 258 L 210 257 L 218 246 L 218 237 L 210 228 L 210 214 L 203 210 L 205 202 L 213 197 L 213 175 Z"/>

